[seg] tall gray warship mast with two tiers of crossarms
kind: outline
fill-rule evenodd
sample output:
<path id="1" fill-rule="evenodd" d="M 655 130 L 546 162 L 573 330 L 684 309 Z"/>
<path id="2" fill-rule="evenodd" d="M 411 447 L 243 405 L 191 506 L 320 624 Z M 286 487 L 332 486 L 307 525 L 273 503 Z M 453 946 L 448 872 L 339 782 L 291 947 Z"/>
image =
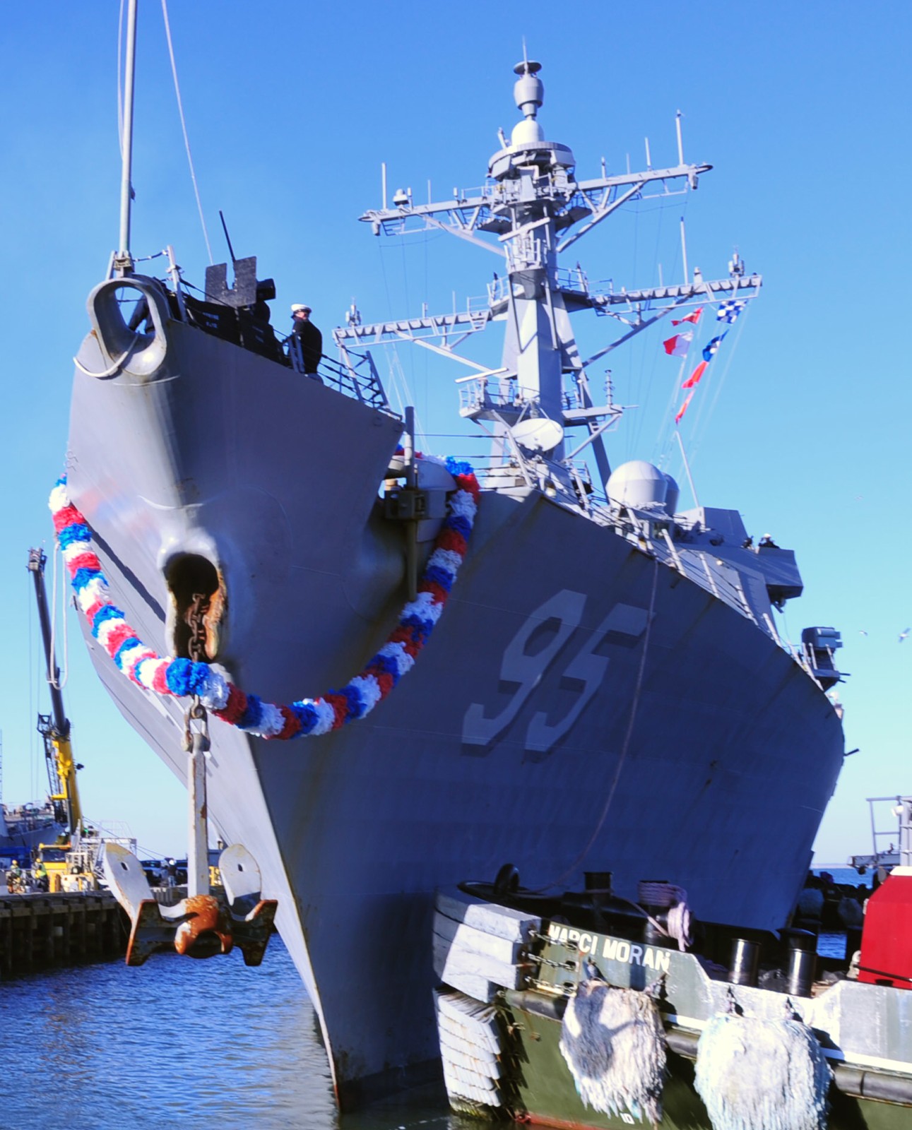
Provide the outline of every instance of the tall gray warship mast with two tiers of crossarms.
<path id="1" fill-rule="evenodd" d="M 579 264 L 572 270 L 561 268 L 559 253 L 626 201 L 685 193 L 695 189 L 698 176 L 712 166 L 684 162 L 678 120 L 676 166 L 607 176 L 602 165 L 602 176 L 577 181 L 572 150 L 548 140 L 538 121 L 545 93 L 540 69 L 540 63 L 526 58 L 514 67 L 513 97 L 523 116 L 509 142 L 501 132 L 502 148 L 488 162 L 487 183 L 480 191 L 455 191 L 451 201 L 420 205 L 412 201 L 410 190 L 400 189 L 393 195 L 393 208 L 388 208 L 384 199 L 381 209 L 361 217 L 375 235 L 442 229 L 493 251 L 503 262 L 503 277 L 495 273 L 488 284 L 486 306 L 469 305 L 452 314 L 423 314 L 393 322 L 353 319 L 333 336 L 344 354 L 348 344 L 408 340 L 474 370 L 472 375 L 459 380 L 461 414 L 490 421 L 495 459 L 510 454 L 514 443 L 511 432 L 523 420 L 546 417 L 558 425 L 536 431 L 537 436 L 549 437 L 549 446 L 538 451 L 558 462 L 565 458 L 564 429 L 585 427 L 587 436 L 572 444 L 572 455 L 591 444 L 605 486 L 610 466 L 602 434 L 620 409 L 610 397 L 608 403 L 593 402 L 587 365 L 667 314 L 680 313 L 688 303 L 729 298 L 733 290 L 739 298 L 749 298 L 762 280 L 758 275 L 746 277 L 742 268 L 740 273 L 713 281 L 695 271 L 693 279 L 685 278 L 678 285 L 606 293 L 590 286 Z M 571 232 L 577 224 L 581 226 Z M 481 233 L 496 236 L 496 243 Z M 570 320 L 571 313 L 584 308 L 609 315 L 622 325 L 615 340 L 585 359 L 580 356 Z M 497 370 L 485 368 L 455 351 L 469 334 L 492 321 L 505 322 Z"/>

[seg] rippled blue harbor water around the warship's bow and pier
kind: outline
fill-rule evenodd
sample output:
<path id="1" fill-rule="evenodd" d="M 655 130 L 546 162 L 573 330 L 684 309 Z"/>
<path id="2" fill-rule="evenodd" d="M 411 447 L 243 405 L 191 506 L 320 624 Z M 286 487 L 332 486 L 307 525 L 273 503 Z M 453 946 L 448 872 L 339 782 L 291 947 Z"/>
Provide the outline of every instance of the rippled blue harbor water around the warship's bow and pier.
<path id="1" fill-rule="evenodd" d="M 837 883 L 870 883 L 831 870 Z M 833 944 L 822 937 L 820 951 Z M 442 1085 L 338 1115 L 313 1007 L 278 938 L 259 968 L 240 955 L 175 955 L 7 980 L 0 1032 L 0 1130 L 478 1127 L 449 1111 Z"/>

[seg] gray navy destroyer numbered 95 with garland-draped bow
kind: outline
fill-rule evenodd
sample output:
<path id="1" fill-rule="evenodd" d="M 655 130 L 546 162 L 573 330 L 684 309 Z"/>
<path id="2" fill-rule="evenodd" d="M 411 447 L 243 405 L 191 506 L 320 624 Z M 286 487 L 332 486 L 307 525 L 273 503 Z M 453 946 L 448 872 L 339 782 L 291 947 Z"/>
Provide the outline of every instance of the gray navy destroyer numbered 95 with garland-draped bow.
<path id="1" fill-rule="evenodd" d="M 262 318 L 255 260 L 232 286 L 209 268 L 205 301 L 171 249 L 165 278 L 137 271 L 128 133 L 119 251 L 88 299 L 52 496 L 93 661 L 137 732 L 186 779 L 182 696 L 236 723 L 209 725 L 209 815 L 278 902 L 342 1095 L 436 1061 L 436 887 L 504 861 L 535 887 L 610 869 L 629 895 L 674 875 L 706 919 L 775 929 L 842 764 L 837 634 L 792 647 L 772 617 L 801 592 L 792 553 L 752 545 L 735 511 L 681 511 L 652 464 L 613 468 L 618 409 L 593 392 L 596 362 L 667 318 L 720 337 L 712 320 L 761 277 L 736 258 L 718 280 L 600 292 L 561 264 L 626 201 L 710 166 L 679 142 L 671 167 L 577 179 L 538 121 L 539 64 L 516 70 L 521 120 L 484 188 L 398 192 L 362 217 L 490 244 L 486 303 L 355 312 L 319 380 Z M 580 311 L 620 330 L 589 358 Z M 490 323 L 500 364 L 467 360 L 459 383 L 461 417 L 492 435 L 476 514 L 466 468 L 418 458 L 370 347 L 455 357 Z"/>

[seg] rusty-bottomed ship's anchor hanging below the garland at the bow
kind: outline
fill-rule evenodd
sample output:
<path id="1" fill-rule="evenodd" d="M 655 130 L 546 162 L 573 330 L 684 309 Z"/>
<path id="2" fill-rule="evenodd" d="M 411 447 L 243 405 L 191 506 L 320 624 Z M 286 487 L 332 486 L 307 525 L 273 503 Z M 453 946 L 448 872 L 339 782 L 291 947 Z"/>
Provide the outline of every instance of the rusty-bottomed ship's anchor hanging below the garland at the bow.
<path id="1" fill-rule="evenodd" d="M 259 965 L 269 945 L 278 903 L 262 897 L 260 869 L 243 844 L 231 844 L 222 852 L 218 869 L 224 895 L 210 892 L 206 806 L 209 730 L 199 701 L 188 710 L 184 721 L 183 748 L 190 755 L 186 898 L 175 906 L 160 905 L 137 857 L 120 844 L 105 846 L 105 878 L 130 916 L 127 964 L 142 965 L 154 953 L 172 948 L 188 957 L 215 957 L 237 946 L 245 965 Z M 198 723 L 196 728 L 193 722 Z"/>

